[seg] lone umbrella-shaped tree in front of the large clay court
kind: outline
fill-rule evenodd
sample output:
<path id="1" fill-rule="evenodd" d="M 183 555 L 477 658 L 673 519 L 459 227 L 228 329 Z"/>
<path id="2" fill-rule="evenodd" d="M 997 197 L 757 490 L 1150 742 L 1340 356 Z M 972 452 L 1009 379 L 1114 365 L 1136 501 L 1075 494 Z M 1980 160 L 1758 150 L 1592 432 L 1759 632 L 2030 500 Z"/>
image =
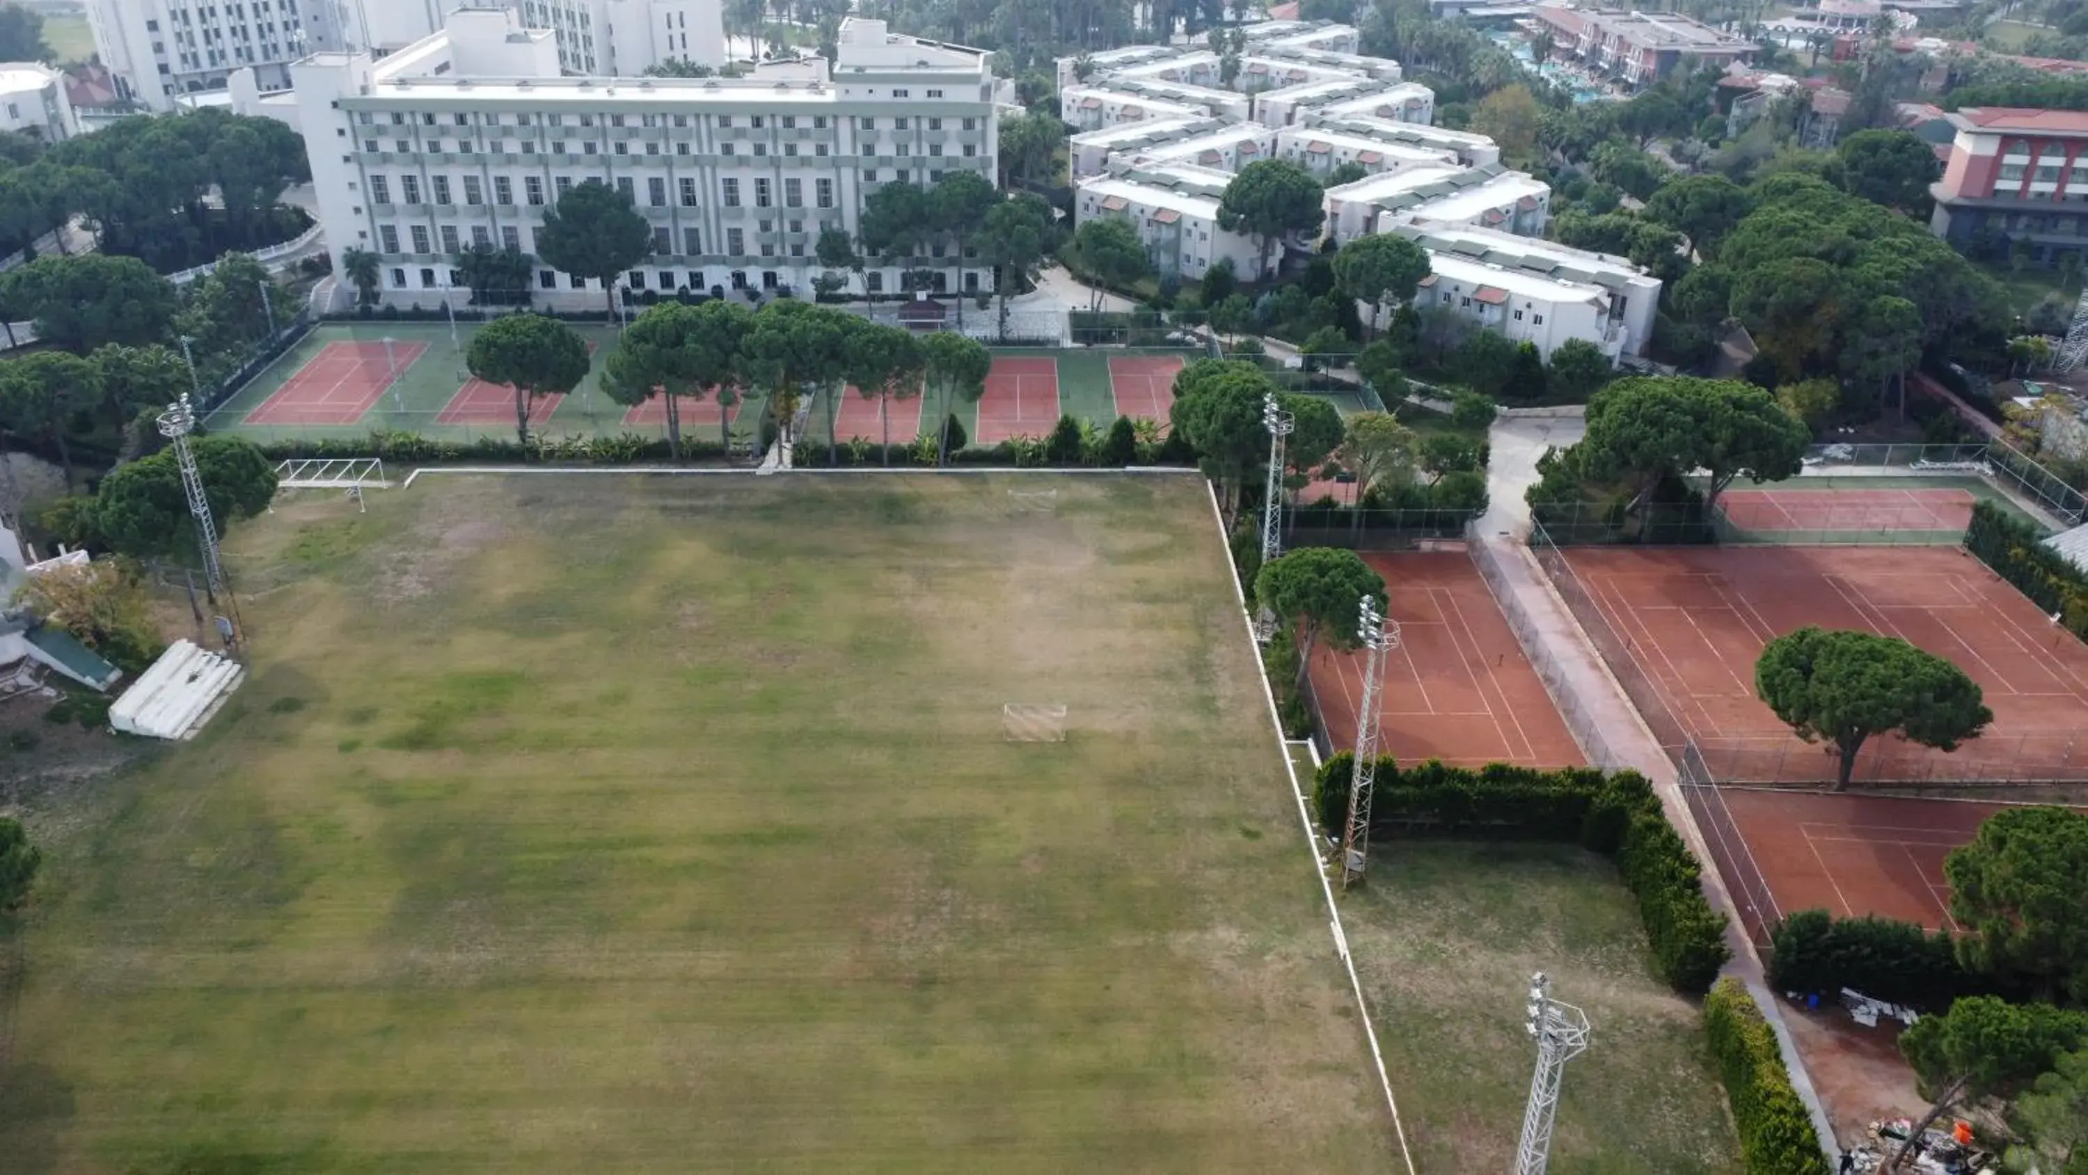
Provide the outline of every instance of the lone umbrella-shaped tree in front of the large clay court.
<path id="1" fill-rule="evenodd" d="M 1754 662 L 1754 693 L 1808 743 L 1835 753 L 1835 789 L 1850 783 L 1873 735 L 1954 751 L 1977 739 L 1994 712 L 1979 682 L 1898 637 L 1798 628 Z"/>

